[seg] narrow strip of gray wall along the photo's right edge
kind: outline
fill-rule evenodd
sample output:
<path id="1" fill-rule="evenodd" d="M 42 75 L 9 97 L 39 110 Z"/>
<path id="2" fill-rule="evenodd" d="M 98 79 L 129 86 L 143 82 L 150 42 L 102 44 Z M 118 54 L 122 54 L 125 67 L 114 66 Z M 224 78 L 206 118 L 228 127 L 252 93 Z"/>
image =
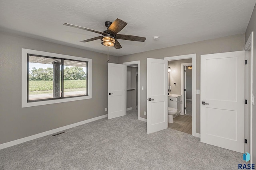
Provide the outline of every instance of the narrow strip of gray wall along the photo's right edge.
<path id="1" fill-rule="evenodd" d="M 252 94 L 256 96 L 256 8 L 252 12 L 252 17 L 248 24 L 248 27 L 245 32 L 245 43 L 250 36 L 251 32 L 254 31 L 254 38 L 253 38 L 253 87 L 252 87 Z M 256 105 L 252 105 L 252 159 L 253 163 L 256 163 Z"/>

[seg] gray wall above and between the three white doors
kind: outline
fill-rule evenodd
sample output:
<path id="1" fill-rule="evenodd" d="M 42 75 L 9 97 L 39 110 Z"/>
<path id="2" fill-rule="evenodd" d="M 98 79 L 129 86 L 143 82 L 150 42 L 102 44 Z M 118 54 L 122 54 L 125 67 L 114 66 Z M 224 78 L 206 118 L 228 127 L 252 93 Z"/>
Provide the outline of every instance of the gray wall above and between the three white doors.
<path id="1" fill-rule="evenodd" d="M 164 57 L 196 53 L 196 89 L 200 89 L 200 55 L 241 50 L 244 50 L 244 34 L 121 56 L 118 58 L 118 63 L 140 61 L 140 86 L 144 86 L 144 90 L 140 88 L 140 117 L 146 118 L 144 111 L 147 109 L 147 58 L 164 59 Z M 200 133 L 200 95 L 196 95 L 196 132 Z"/>

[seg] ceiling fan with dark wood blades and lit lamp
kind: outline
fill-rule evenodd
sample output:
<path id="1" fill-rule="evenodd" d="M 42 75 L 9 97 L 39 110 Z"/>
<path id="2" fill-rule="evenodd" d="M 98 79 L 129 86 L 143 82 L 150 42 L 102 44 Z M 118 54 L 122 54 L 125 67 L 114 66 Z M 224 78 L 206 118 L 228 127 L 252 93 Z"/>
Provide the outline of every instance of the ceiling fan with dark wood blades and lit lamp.
<path id="1" fill-rule="evenodd" d="M 124 39 L 124 40 L 129 40 L 129 41 L 140 41 L 144 42 L 146 40 L 145 37 L 138 37 L 134 35 L 124 35 L 124 34 L 117 34 L 119 31 L 121 31 L 126 25 L 127 22 L 122 21 L 120 19 L 116 19 L 113 23 L 110 21 L 105 22 L 105 26 L 108 28 L 107 30 L 100 32 L 100 31 L 95 31 L 93 29 L 85 28 L 85 27 L 80 27 L 78 25 L 73 25 L 70 23 L 64 23 L 64 25 L 70 26 L 70 27 L 75 27 L 79 29 L 84 29 L 86 31 L 91 31 L 94 33 L 99 33 L 102 36 L 99 37 L 94 37 L 90 39 L 86 39 L 84 41 L 80 41 L 82 43 L 86 43 L 89 41 L 94 41 L 96 39 L 100 39 L 102 42 L 102 45 L 105 45 L 107 47 L 115 47 L 116 49 L 122 48 L 120 43 L 117 41 L 117 39 Z"/>

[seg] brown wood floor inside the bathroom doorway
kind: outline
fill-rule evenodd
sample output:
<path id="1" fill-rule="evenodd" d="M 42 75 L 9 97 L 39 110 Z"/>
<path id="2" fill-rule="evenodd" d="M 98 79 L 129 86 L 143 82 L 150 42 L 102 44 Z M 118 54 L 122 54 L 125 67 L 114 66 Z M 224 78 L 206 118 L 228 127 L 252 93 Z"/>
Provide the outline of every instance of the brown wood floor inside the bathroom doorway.
<path id="1" fill-rule="evenodd" d="M 168 128 L 192 135 L 192 116 L 178 115 L 173 121 L 174 123 L 168 123 Z"/>

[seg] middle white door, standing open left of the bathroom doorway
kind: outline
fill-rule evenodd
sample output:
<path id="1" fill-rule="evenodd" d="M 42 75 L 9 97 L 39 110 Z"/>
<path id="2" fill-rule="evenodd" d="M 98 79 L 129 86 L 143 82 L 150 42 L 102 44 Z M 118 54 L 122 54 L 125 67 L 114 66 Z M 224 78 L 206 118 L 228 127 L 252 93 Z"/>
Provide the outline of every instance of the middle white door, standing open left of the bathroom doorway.
<path id="1" fill-rule="evenodd" d="M 147 59 L 147 133 L 168 127 L 168 61 Z"/>

